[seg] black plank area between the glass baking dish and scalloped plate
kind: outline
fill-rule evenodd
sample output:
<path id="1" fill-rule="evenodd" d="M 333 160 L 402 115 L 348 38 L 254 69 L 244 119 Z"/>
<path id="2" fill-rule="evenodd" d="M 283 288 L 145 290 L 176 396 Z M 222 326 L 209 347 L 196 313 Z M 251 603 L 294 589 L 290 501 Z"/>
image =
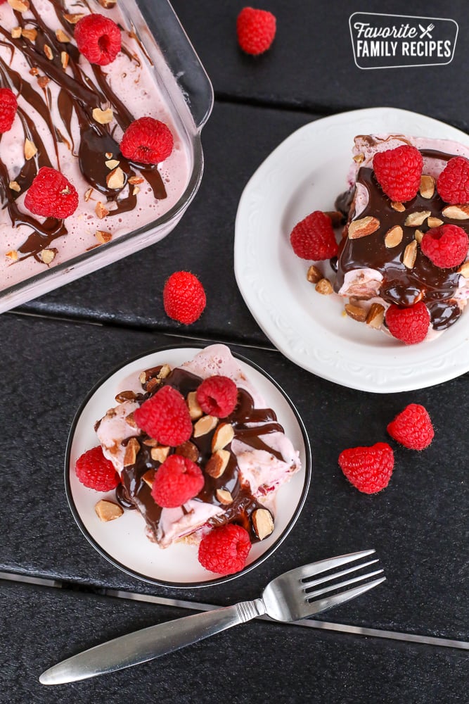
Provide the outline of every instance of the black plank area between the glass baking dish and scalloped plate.
<path id="1" fill-rule="evenodd" d="M 176 229 L 158 244 L 31 301 L 22 310 L 270 345 L 236 285 L 236 209 L 252 172 L 285 137 L 313 119 L 305 113 L 217 104 L 203 130 L 202 184 Z M 207 293 L 205 312 L 190 326 L 167 318 L 162 303 L 165 280 L 184 269 L 198 275 Z"/>

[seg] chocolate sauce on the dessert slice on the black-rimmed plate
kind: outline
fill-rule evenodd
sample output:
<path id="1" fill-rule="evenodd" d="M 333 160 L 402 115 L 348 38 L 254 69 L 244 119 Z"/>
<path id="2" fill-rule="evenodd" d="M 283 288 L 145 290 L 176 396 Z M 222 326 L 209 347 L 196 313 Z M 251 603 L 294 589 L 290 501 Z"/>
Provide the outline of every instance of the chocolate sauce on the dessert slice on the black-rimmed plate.
<path id="1" fill-rule="evenodd" d="M 157 367 L 158 369 L 159 367 Z M 162 380 L 161 384 L 150 393 L 137 394 L 135 400 L 143 403 L 153 393 L 169 384 L 174 389 L 179 391 L 184 397 L 191 391 L 195 391 L 202 379 L 191 372 L 181 368 L 175 368 L 169 375 Z M 221 422 L 231 423 L 234 431 L 234 438 L 242 441 L 245 445 L 253 450 L 265 450 L 274 455 L 279 460 L 282 460 L 281 453 L 268 446 L 261 436 L 268 435 L 273 432 L 283 432 L 283 427 L 278 423 L 276 414 L 271 408 L 254 408 L 252 396 L 245 389 L 238 388 L 238 403 L 233 413 L 222 419 Z M 256 426 L 252 427 L 251 424 Z M 214 430 L 197 438 L 191 437 L 190 443 L 197 448 L 198 458 L 196 463 L 203 470 L 205 484 L 202 491 L 195 496 L 195 501 L 203 501 L 212 505 L 221 505 L 224 513 L 215 516 L 208 521 L 212 526 L 221 525 L 227 522 L 234 522 L 243 526 L 249 533 L 252 541 L 257 541 L 257 535 L 252 528 L 250 516 L 257 508 L 264 508 L 252 493 L 248 486 L 244 486 L 240 482 L 240 470 L 236 460 L 236 455 L 231 451 L 231 444 L 224 449 L 230 453 L 230 458 L 226 469 L 221 477 L 215 479 L 204 472 L 204 467 L 212 455 L 212 437 Z M 143 518 L 146 520 L 150 535 L 156 536 L 162 509 L 155 503 L 151 496 L 150 486 L 143 479 L 143 474 L 149 470 L 158 471 L 160 463 L 153 460 L 151 457 L 151 447 L 146 446 L 145 440 L 148 435 L 139 435 L 140 443 L 139 452 L 136 455 L 134 465 L 124 467 L 121 472 L 122 485 L 117 487 L 116 498 L 123 508 L 129 508 L 129 505 L 134 505 L 138 508 Z M 127 444 L 128 440 L 124 440 L 123 444 Z M 171 448 L 170 453 L 186 454 L 184 446 Z M 223 505 L 217 499 L 217 490 L 225 489 L 229 491 L 233 497 L 233 502 L 230 505 Z M 269 489 L 265 489 L 267 493 Z M 182 507 L 184 510 L 184 506 Z"/>

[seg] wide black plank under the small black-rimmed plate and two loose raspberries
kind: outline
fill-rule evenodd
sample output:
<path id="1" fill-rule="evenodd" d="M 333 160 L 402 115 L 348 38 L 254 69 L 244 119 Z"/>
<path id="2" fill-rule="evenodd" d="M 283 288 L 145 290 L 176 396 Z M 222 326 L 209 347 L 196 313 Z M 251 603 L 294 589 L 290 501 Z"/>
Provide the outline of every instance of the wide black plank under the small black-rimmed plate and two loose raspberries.
<path id="1" fill-rule="evenodd" d="M 87 391 L 115 365 L 172 339 L 13 314 L 1 316 L 0 338 L 6 379 L 0 474 L 8 507 L 0 512 L 0 534 L 8 536 L 1 542 L 0 571 L 174 596 L 101 558 L 75 525 L 63 488 L 68 429 Z M 469 638 L 467 443 L 454 422 L 455 399 L 458 413 L 467 412 L 467 375 L 381 396 L 323 381 L 274 351 L 233 349 L 269 372 L 296 404 L 311 439 L 311 489 L 295 529 L 269 560 L 228 584 L 177 593 L 220 604 L 255 598 L 284 570 L 374 547 L 387 582 L 329 620 Z M 359 494 L 342 477 L 338 454 L 386 440 L 387 422 L 410 401 L 428 408 L 434 443 L 422 453 L 396 447 L 390 486 L 377 496 Z"/>

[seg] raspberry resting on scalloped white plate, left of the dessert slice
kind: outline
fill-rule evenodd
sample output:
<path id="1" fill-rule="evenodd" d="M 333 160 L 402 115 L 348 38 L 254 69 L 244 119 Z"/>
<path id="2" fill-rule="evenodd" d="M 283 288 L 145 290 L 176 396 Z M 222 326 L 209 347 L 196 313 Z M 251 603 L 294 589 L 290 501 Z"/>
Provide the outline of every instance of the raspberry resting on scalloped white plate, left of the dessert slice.
<path id="1" fill-rule="evenodd" d="M 335 257 L 338 252 L 332 220 L 321 210 L 314 210 L 297 222 L 290 233 L 290 243 L 295 254 L 302 259 L 320 261 Z"/>

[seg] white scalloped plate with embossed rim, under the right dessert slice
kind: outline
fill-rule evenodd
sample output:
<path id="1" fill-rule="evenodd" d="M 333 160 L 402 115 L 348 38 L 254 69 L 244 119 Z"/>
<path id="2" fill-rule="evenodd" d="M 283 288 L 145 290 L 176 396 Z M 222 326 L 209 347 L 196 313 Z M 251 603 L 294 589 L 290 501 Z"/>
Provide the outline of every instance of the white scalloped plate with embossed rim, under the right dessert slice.
<path id="1" fill-rule="evenodd" d="M 346 188 L 356 134 L 401 132 L 469 145 L 443 122 L 397 108 L 369 108 L 311 122 L 285 139 L 246 185 L 236 215 L 235 274 L 257 323 L 300 367 L 361 391 L 422 389 L 469 370 L 469 313 L 431 342 L 403 345 L 342 314 L 336 296 L 306 279 L 289 235 L 313 210 L 333 210 Z"/>

